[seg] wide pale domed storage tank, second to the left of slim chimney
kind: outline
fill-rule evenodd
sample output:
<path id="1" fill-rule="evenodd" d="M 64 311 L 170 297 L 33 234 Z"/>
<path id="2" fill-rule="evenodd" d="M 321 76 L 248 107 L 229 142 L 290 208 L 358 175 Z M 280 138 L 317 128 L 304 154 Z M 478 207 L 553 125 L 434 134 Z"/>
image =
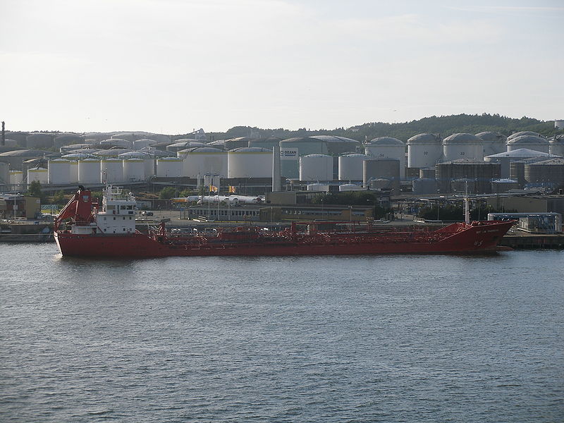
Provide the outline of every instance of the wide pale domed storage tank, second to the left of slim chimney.
<path id="1" fill-rule="evenodd" d="M 180 150 L 178 158 L 184 161 L 184 176 L 197 178 L 206 173 L 227 177 L 227 152 L 212 147 L 195 147 Z"/>

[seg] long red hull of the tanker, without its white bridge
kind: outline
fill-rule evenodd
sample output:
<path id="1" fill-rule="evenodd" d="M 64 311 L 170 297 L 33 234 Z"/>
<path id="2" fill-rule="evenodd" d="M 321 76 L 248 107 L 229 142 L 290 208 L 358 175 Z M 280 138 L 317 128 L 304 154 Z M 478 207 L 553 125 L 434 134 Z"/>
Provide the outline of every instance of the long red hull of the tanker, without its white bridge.
<path id="1" fill-rule="evenodd" d="M 298 234 L 293 238 L 268 235 L 252 240 L 216 239 L 204 243 L 143 233 L 78 235 L 59 232 L 55 233 L 55 239 L 63 256 L 74 257 L 449 254 L 495 251 L 513 223 L 454 223 L 437 231 Z"/>

